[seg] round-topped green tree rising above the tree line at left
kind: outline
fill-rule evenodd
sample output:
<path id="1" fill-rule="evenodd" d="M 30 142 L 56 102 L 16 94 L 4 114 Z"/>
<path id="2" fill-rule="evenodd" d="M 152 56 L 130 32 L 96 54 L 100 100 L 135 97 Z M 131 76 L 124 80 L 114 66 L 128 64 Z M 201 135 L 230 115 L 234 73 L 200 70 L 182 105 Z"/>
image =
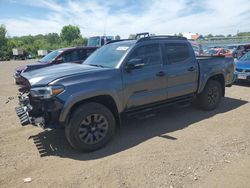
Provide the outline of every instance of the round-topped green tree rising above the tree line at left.
<path id="1" fill-rule="evenodd" d="M 71 44 L 72 41 L 81 37 L 80 29 L 77 26 L 67 25 L 64 26 L 60 34 L 63 41 Z"/>

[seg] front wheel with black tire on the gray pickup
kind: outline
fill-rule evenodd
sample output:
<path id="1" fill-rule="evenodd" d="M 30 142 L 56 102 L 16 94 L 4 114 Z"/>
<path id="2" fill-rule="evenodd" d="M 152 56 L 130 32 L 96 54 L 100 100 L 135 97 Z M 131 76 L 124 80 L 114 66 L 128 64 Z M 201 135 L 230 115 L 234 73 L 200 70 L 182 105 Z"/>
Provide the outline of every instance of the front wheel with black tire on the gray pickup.
<path id="1" fill-rule="evenodd" d="M 105 146 L 115 134 L 112 112 L 99 103 L 86 103 L 70 117 L 65 135 L 70 145 L 80 151 L 90 152 Z"/>

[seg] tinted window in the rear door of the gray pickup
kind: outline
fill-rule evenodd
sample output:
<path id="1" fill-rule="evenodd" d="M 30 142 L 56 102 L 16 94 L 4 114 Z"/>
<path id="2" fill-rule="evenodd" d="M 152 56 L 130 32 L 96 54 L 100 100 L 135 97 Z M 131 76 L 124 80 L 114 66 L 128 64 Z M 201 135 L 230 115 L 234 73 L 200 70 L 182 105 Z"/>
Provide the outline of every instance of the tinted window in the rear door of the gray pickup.
<path id="1" fill-rule="evenodd" d="M 189 58 L 187 44 L 165 44 L 165 49 L 169 63 L 179 63 Z"/>

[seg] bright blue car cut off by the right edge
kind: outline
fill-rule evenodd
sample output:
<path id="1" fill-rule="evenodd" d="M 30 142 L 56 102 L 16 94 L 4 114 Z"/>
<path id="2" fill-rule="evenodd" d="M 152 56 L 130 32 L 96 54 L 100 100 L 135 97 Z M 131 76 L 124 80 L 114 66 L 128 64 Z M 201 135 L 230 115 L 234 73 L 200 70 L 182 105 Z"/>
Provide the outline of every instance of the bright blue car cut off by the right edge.
<path id="1" fill-rule="evenodd" d="M 236 62 L 236 81 L 250 81 L 250 52 Z"/>

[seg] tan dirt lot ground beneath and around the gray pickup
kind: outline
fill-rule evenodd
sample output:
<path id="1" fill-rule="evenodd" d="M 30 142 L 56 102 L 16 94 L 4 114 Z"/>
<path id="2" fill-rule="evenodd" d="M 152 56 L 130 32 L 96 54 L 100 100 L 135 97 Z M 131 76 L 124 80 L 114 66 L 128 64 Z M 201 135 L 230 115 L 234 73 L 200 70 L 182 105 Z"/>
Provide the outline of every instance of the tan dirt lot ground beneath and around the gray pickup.
<path id="1" fill-rule="evenodd" d="M 0 62 L 0 187 L 250 187 L 250 84 L 213 112 L 128 119 L 108 146 L 78 153 L 62 130 L 20 126 L 12 74 L 25 63 Z"/>

